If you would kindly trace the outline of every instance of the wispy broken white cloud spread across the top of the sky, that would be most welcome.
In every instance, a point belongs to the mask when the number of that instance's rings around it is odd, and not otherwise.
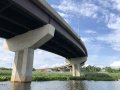
[[[97,3],[97,4],[96,4]],[[52,5],[62,16],[72,15],[70,17],[86,16],[96,19],[98,22],[108,22],[111,10],[120,10],[120,0],[61,0],[59,5]],[[68,19],[69,20],[69,19]]]

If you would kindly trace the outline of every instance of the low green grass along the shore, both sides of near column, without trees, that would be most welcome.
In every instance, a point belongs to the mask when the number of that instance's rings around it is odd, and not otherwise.
[[[8,81],[11,77],[10,70],[0,70],[0,81]],[[81,77],[73,77],[69,72],[32,72],[33,81],[48,80],[94,80],[114,81],[120,79],[120,73],[84,73]]]

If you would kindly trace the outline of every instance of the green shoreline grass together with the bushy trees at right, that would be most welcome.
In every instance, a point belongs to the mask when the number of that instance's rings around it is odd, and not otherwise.
[[[83,67],[81,77],[73,77],[70,72],[38,72],[33,70],[33,81],[45,80],[95,80],[113,81],[120,79],[120,69],[110,67],[99,68],[95,66]],[[10,80],[11,69],[0,69],[0,81]]]

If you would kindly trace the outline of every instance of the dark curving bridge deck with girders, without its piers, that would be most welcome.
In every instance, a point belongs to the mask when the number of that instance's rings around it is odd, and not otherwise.
[[[44,0],[0,0],[2,38],[8,39],[48,23],[56,28],[55,36],[40,49],[66,58],[87,56],[82,41]]]

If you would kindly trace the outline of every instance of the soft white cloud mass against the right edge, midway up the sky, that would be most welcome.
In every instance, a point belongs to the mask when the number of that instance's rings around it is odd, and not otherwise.
[[[97,39],[108,43],[113,50],[120,51],[120,16],[111,14],[107,27],[112,30],[111,33]]]

